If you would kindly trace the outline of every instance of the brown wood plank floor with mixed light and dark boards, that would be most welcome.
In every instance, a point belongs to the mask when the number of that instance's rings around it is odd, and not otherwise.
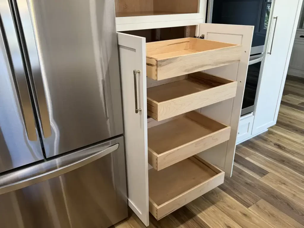
[[[287,76],[277,124],[237,145],[223,185],[157,221],[153,228],[304,228],[304,79]],[[116,228],[143,228],[130,217]],[[114,227],[112,227],[114,228]]]

